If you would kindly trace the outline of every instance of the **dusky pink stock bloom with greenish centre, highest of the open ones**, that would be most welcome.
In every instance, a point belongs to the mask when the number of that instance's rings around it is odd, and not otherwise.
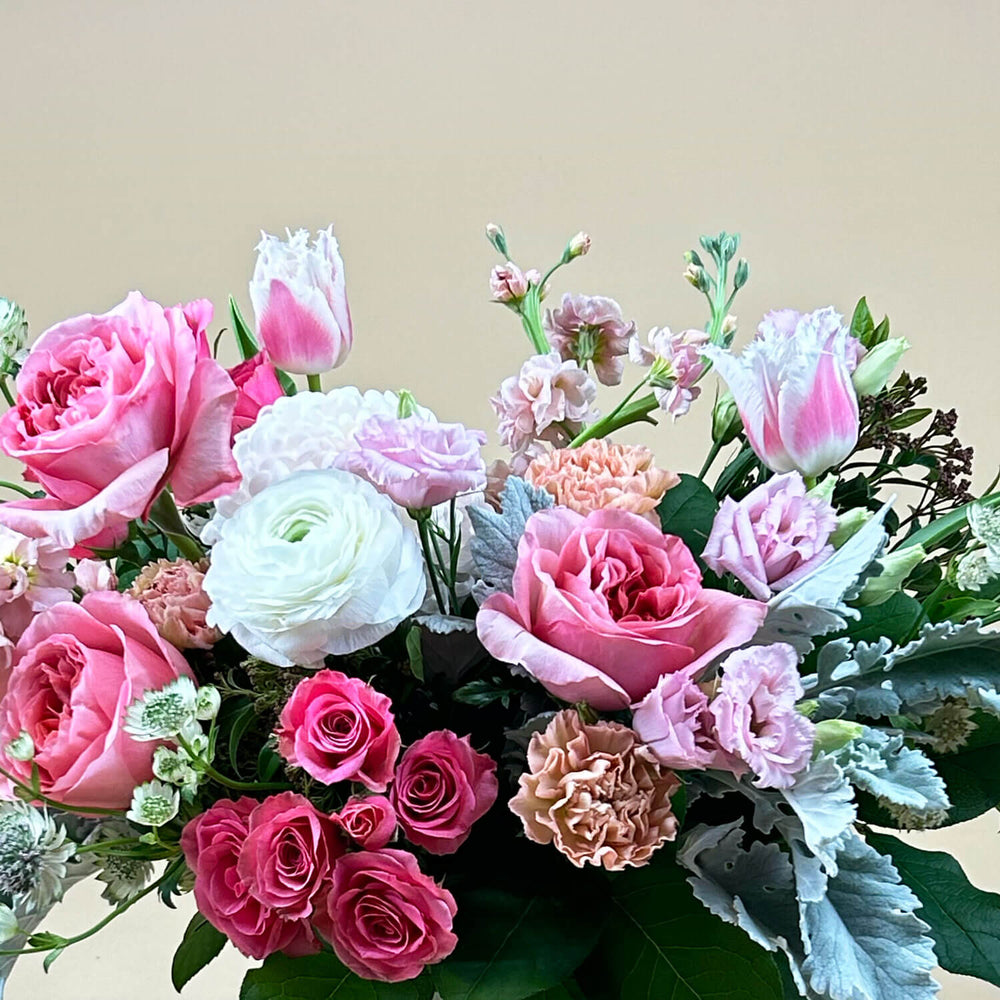
[[[545,314],[545,334],[564,361],[581,368],[594,364],[604,385],[618,385],[635,323],[626,322],[621,306],[601,295],[564,295],[557,309]]]

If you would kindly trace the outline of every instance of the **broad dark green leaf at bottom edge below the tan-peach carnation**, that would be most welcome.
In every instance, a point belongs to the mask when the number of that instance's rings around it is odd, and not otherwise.
[[[613,876],[612,913],[578,977],[588,996],[782,1000],[771,956],[709,913],[686,874],[661,849],[645,868]]]

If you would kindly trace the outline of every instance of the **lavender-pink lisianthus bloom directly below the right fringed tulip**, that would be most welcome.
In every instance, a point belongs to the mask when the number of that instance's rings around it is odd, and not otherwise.
[[[702,559],[732,573],[758,600],[797,583],[833,555],[837,512],[809,496],[797,472],[774,476],[742,500],[726,497],[715,515]]]

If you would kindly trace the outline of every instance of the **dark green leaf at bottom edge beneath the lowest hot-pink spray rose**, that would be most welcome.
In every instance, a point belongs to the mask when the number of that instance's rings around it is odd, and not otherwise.
[[[276,953],[246,974],[240,1000],[426,1000],[427,985],[426,976],[403,983],[362,979],[330,952],[305,958]]]

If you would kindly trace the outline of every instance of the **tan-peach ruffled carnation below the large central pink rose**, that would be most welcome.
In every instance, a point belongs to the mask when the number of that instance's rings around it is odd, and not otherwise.
[[[577,868],[646,864],[677,835],[677,776],[617,722],[555,715],[528,745],[528,770],[510,800],[529,840],[555,844]]]

